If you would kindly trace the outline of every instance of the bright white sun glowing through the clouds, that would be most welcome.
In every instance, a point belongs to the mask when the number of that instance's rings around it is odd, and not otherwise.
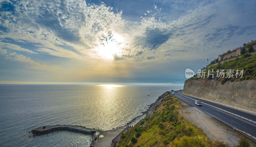
[[[123,48],[123,37],[117,33],[111,33],[111,35],[108,34],[101,39],[97,51],[100,58],[114,59],[114,55],[122,55]]]

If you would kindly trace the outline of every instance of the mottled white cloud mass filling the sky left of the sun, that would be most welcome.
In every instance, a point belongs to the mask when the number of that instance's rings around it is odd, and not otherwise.
[[[0,27],[6,30],[0,32],[0,39],[36,43],[40,52],[66,58],[95,56],[100,36],[109,31],[119,32],[125,24],[122,11],[114,13],[104,3],[32,0],[12,1],[9,5],[13,11],[0,11]],[[71,47],[75,52],[59,46]]]

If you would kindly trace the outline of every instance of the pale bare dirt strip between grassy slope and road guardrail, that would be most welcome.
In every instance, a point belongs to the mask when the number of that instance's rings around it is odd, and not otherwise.
[[[203,129],[204,133],[211,139],[211,141],[223,141],[230,146],[238,144],[239,137],[231,128],[216,121],[211,116],[205,114],[196,107],[191,107],[182,102],[184,109],[179,110],[179,113],[188,121],[191,121],[198,128]]]

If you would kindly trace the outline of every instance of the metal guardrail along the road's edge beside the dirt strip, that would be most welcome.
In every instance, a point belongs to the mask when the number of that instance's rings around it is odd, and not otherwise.
[[[177,94],[177,93],[176,93],[176,94]],[[180,95],[180,94],[179,94],[179,95]],[[183,95],[181,95],[181,96],[183,96]],[[186,97],[186,96],[184,96],[184,97]],[[177,98],[178,98],[178,97],[177,97]],[[178,98],[178,99],[181,99],[181,98]],[[189,99],[191,99],[191,98],[189,98]],[[183,100],[184,102],[186,102],[186,103],[188,103],[189,105],[191,105],[191,104],[190,104],[189,102],[187,102],[186,100],[184,100],[184,99],[181,99],[181,100]],[[198,108],[198,109],[200,109],[200,108]],[[200,109],[200,110],[202,110],[202,109]],[[204,110],[202,110],[202,111],[204,111]],[[209,113],[206,112],[206,111],[204,111],[204,112],[207,113],[207,114],[209,114]],[[235,131],[239,132],[240,134],[246,136],[246,137],[249,138],[250,140],[256,142],[256,137],[252,136],[251,134],[249,134],[249,133],[247,133],[247,132],[245,132],[245,131],[242,131],[242,130],[237,129],[236,127],[230,125],[229,123],[227,123],[227,122],[225,122],[225,121],[222,121],[221,119],[219,119],[219,118],[213,116],[212,114],[209,114],[209,115],[211,115],[213,118],[217,119],[218,121],[224,123],[224,124],[227,125],[228,127],[234,129]]]

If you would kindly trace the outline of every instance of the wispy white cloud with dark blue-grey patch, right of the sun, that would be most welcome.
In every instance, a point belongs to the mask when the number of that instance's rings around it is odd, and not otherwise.
[[[222,5],[221,7],[225,7],[228,4]],[[164,56],[166,53],[175,53],[172,58],[180,58],[180,56],[204,58],[202,54],[212,53],[217,56],[225,41],[231,38],[235,41],[238,36],[255,34],[256,29],[255,23],[241,25],[235,20],[237,18],[233,20],[230,15],[223,15],[225,11],[220,8],[218,2],[189,10],[173,21],[163,21],[156,17],[156,13],[142,17],[139,25],[129,28],[133,38],[129,52],[116,56],[115,59],[133,58],[135,61],[140,61],[155,56],[155,59],[163,60],[170,58]],[[233,13],[232,11],[230,9],[229,14]],[[230,45],[234,48],[232,44]],[[135,51],[143,53],[138,57]]]

